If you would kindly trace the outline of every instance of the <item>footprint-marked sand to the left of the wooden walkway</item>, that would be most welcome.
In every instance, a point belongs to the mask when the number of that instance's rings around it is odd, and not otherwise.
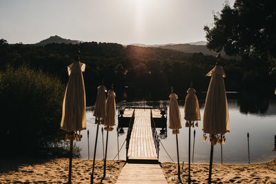
[[[68,159],[52,159],[17,166],[17,161],[12,161],[12,165],[5,161],[4,164],[3,162],[0,164],[0,183],[66,183],[68,163]],[[125,162],[107,161],[106,165],[107,176],[102,183],[115,183]],[[72,183],[90,183],[91,172],[91,160],[72,160]],[[94,183],[100,183],[101,174],[103,174],[103,161],[96,161]]]

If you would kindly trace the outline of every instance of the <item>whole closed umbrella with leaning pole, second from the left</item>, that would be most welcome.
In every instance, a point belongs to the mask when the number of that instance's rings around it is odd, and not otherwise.
[[[93,157],[93,166],[92,166],[92,173],[90,176],[90,183],[93,183],[94,179],[94,170],[95,170],[95,158],[96,158],[96,150],[97,150],[97,141],[98,141],[98,134],[99,134],[99,124],[103,124],[103,120],[106,117],[106,86],[102,84],[99,85],[97,88],[97,99],[95,103],[95,109],[93,116],[95,116],[95,124],[97,124],[97,131],[96,131],[96,139],[95,139],[95,148],[94,148],[94,157]]]

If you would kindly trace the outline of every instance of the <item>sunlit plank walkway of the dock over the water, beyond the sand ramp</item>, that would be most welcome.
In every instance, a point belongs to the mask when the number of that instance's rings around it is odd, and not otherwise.
[[[157,160],[150,125],[150,109],[136,109],[128,148],[130,160]]]

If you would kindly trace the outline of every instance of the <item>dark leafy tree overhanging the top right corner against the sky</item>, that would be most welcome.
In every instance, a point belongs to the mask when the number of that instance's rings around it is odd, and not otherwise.
[[[276,11],[272,0],[236,0],[214,15],[214,26],[205,26],[207,47],[276,66]]]

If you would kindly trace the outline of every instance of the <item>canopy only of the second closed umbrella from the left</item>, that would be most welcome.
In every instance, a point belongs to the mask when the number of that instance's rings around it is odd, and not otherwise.
[[[106,86],[99,85],[97,88],[97,99],[95,103],[95,110],[93,116],[96,116],[97,118],[104,119],[106,117]],[[103,123],[103,122],[97,122],[96,123]]]

